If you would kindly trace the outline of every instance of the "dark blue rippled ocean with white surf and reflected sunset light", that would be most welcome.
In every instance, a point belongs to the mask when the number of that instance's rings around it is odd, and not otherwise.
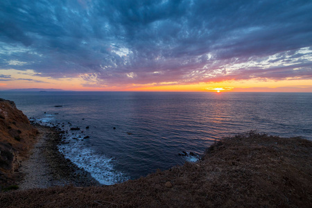
[[[102,184],[196,161],[216,140],[250,130],[312,139],[311,93],[0,92],[0,98],[64,130],[60,152]]]

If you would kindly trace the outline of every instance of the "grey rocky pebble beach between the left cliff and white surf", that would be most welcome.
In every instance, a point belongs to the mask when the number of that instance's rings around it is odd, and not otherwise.
[[[55,128],[33,123],[40,132],[40,139],[31,150],[30,157],[21,162],[20,172],[24,180],[19,189],[48,188],[73,185],[75,187],[99,186],[100,184],[87,171],[78,168],[58,150],[62,141]]]

